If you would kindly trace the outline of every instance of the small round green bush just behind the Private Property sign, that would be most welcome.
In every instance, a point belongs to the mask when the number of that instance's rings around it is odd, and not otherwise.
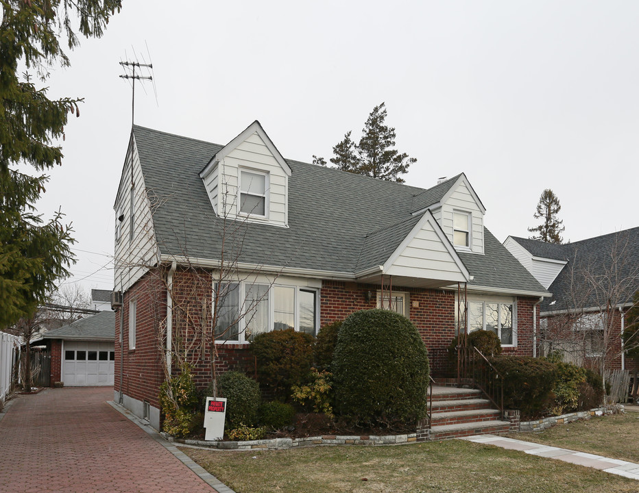
[[[256,423],[261,394],[259,385],[254,379],[240,372],[226,372],[217,379],[217,395],[226,397],[228,429],[234,429],[240,425],[251,427]]]

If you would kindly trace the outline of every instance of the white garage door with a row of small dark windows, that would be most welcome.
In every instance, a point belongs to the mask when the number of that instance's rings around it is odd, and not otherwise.
[[[64,341],[62,381],[65,386],[113,385],[113,342]]]

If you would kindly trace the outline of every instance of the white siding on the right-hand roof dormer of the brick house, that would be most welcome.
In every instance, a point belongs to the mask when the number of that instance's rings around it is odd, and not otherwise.
[[[433,210],[433,216],[437,219],[437,222],[442,225],[442,229],[448,236],[448,239],[455,246],[458,251],[469,251],[472,253],[484,253],[483,249],[483,215],[484,209],[481,203],[478,203],[479,199],[472,191],[472,187],[468,184],[465,177],[460,177],[457,184],[450,189],[450,192],[446,194],[440,207]],[[457,244],[459,241],[455,241],[455,229],[462,231],[462,228],[457,225],[455,227],[455,213],[459,217],[468,215],[468,241],[470,246],[463,244]],[[463,235],[458,234],[457,238],[461,238]]]

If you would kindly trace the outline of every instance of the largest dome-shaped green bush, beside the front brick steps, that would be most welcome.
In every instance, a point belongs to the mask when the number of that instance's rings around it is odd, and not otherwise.
[[[428,352],[404,316],[384,309],[348,316],[331,368],[335,410],[355,424],[402,427],[424,418]]]

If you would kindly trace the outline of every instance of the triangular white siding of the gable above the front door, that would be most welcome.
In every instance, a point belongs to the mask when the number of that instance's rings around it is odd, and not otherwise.
[[[463,280],[453,256],[428,222],[424,223],[385,273],[451,282]]]

